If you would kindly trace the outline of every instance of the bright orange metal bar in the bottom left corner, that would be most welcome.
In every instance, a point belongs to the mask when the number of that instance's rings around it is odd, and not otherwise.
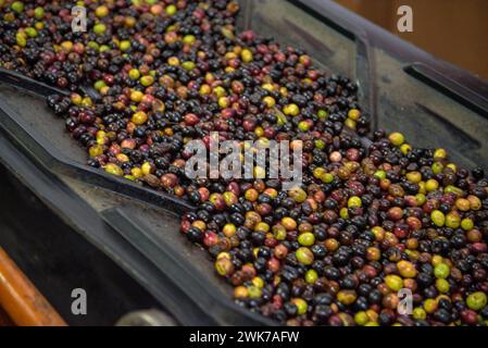
[[[0,306],[18,326],[66,325],[2,248],[0,248]]]

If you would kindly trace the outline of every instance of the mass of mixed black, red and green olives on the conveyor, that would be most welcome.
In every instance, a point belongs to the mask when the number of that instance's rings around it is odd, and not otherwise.
[[[139,2],[87,2],[83,36],[64,1],[8,2],[0,65],[70,91],[46,101],[88,165],[196,207],[182,232],[208,249],[238,306],[299,325],[488,319],[483,169],[399,132],[363,144],[356,84],[302,50],[239,33],[234,0]],[[239,149],[288,140],[302,151],[301,183],[285,190],[268,159],[252,171],[262,179],[214,177],[210,165],[190,177],[186,145],[208,149],[214,132]],[[395,311],[402,288],[412,318]]]

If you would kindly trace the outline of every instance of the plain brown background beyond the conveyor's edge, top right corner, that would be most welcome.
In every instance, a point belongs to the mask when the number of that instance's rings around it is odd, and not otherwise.
[[[325,0],[324,0],[325,1]],[[335,0],[427,52],[488,80],[488,0]],[[413,33],[399,33],[398,8],[413,10]]]

